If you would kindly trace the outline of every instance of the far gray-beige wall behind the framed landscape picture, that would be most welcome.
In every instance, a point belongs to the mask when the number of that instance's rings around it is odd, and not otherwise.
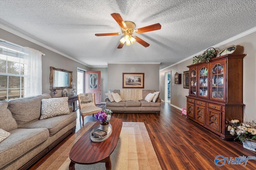
[[[144,89],[159,91],[159,64],[108,64],[108,90],[122,89],[124,72],[144,73]]]

